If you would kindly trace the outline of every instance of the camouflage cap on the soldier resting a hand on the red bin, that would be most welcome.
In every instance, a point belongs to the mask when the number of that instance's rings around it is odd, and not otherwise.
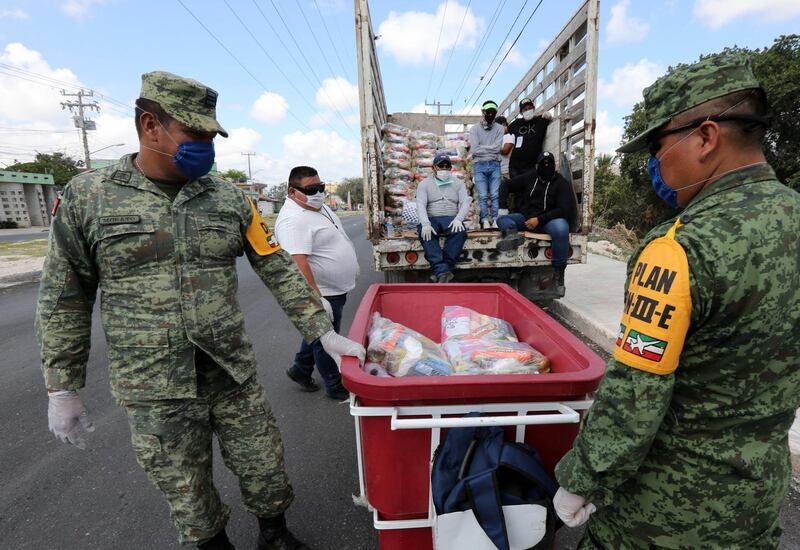
[[[217,92],[204,84],[166,71],[142,75],[139,97],[155,101],[166,113],[192,130],[228,132],[217,122]]]

